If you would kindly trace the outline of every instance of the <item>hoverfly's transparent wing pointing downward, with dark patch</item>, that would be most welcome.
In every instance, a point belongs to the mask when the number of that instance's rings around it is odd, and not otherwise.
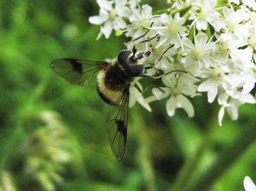
[[[108,117],[110,127],[108,129],[108,140],[112,151],[118,161],[121,161],[125,154],[127,139],[127,121],[128,121],[128,103],[129,88],[124,90],[124,96],[121,98],[121,105],[115,107]]]

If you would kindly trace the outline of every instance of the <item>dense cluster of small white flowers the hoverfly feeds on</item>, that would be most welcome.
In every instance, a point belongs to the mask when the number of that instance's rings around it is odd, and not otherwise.
[[[90,23],[100,25],[102,35],[137,39],[137,49],[151,51],[148,63],[166,87],[153,89],[153,96],[140,102],[168,97],[167,113],[182,107],[194,115],[190,98],[207,92],[208,102],[220,105],[218,123],[226,111],[237,119],[238,107],[255,103],[256,3],[252,0],[168,0],[166,9],[153,14],[138,0],[97,0],[100,14]],[[141,43],[140,43],[141,42]],[[143,43],[142,43],[143,42]],[[185,72],[182,72],[185,71]]]

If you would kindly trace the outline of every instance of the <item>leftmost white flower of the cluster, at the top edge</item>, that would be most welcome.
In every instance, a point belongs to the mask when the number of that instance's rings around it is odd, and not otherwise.
[[[102,25],[101,32],[98,38],[101,38],[102,34],[105,38],[109,38],[112,30],[118,31],[119,29],[125,28],[127,24],[123,17],[129,16],[129,9],[125,6],[126,0],[97,0],[100,6],[100,14],[97,16],[91,16],[89,18],[90,23],[95,25]],[[113,3],[115,7],[113,8]]]

